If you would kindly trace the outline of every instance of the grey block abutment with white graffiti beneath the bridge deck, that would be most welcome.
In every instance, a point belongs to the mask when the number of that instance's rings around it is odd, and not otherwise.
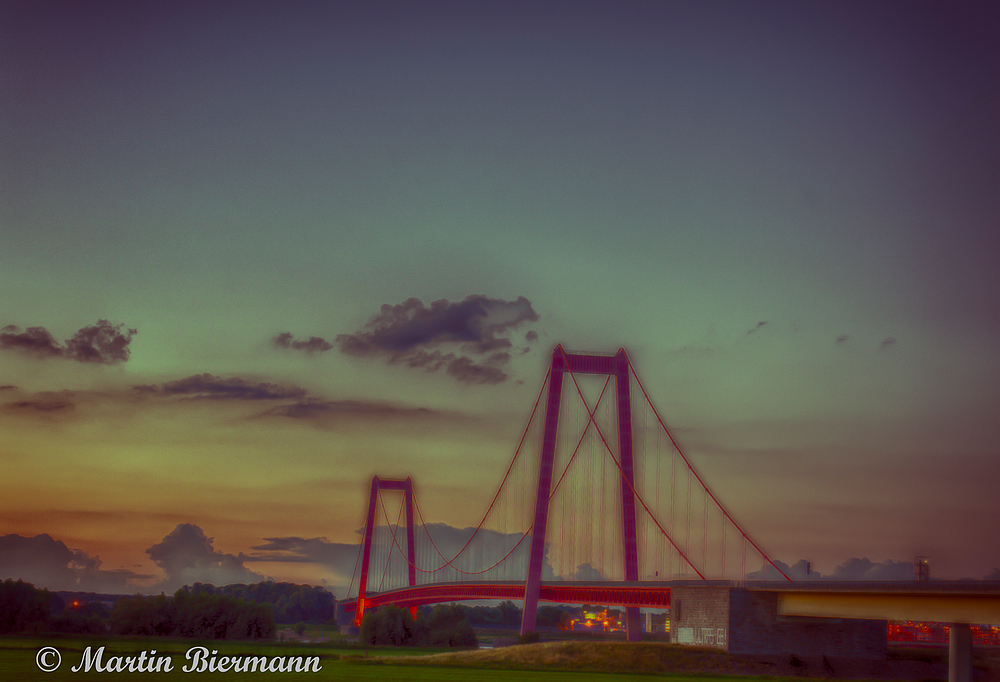
[[[721,586],[672,588],[670,641],[733,654],[887,654],[884,620],[779,618],[777,593]]]

